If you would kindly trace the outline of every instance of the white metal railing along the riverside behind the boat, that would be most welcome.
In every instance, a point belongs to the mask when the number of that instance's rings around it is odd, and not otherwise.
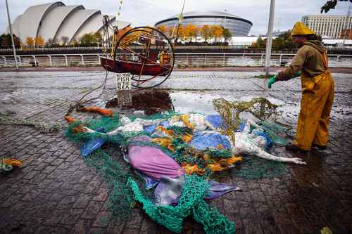
[[[17,56],[20,67],[100,66],[103,53],[38,54]],[[352,55],[329,54],[329,67],[352,67]],[[291,63],[294,54],[272,53],[271,66]],[[263,66],[265,53],[175,53],[175,67]],[[0,56],[0,67],[14,67],[13,56]]]

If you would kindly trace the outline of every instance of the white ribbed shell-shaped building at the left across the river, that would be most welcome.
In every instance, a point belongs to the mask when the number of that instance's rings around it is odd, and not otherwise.
[[[79,40],[83,34],[103,31],[103,16],[99,10],[87,10],[82,5],[65,6],[61,1],[30,6],[13,21],[12,31],[23,42],[27,37],[39,35],[48,41],[61,42],[62,37],[68,43]],[[109,16],[112,25],[119,28],[129,22],[116,22],[115,16]],[[8,30],[7,30],[8,31]]]

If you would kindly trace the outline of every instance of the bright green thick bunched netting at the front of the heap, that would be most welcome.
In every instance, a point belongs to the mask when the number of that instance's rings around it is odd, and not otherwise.
[[[139,186],[129,180],[134,196],[143,204],[143,209],[153,221],[160,223],[175,233],[181,233],[184,219],[192,214],[194,220],[203,224],[206,233],[234,233],[234,223],[227,220],[216,209],[210,209],[203,200],[209,188],[208,182],[201,176],[186,176],[180,202],[177,206],[155,205],[142,195]]]

